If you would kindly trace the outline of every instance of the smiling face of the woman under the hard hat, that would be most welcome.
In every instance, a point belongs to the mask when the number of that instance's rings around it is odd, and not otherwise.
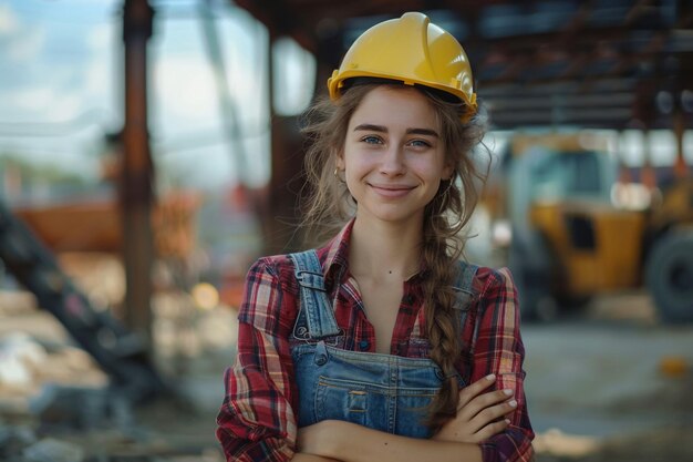
[[[442,179],[452,176],[428,100],[412,88],[376,86],[354,111],[338,158],[356,216],[423,222]]]

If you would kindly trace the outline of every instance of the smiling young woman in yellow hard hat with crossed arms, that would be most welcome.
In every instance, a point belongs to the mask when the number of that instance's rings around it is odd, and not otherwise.
[[[459,43],[424,14],[354,42],[306,129],[307,223],[259,259],[217,437],[234,461],[527,461],[517,296],[459,259],[484,134]]]

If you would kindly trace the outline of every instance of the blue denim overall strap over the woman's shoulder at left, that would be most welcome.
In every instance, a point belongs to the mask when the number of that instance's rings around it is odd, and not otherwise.
[[[300,310],[296,326],[302,324],[302,317],[304,317],[309,338],[320,339],[338,335],[340,330],[324,288],[324,277],[318,254],[316,250],[306,250],[290,254],[289,257],[293,260],[296,279],[301,286]],[[297,335],[297,332],[293,333]],[[303,335],[297,337],[306,338]]]

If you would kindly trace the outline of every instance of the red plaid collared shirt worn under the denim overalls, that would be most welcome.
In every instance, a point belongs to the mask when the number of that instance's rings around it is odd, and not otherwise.
[[[329,298],[337,300],[334,314],[344,331],[343,348],[374,352],[375,332],[361,308],[361,295],[349,273],[352,226],[353,220],[318,249],[318,257]],[[457,368],[470,382],[495,373],[497,389],[515,390],[518,402],[510,425],[480,444],[483,458],[485,462],[529,461],[534,456],[534,431],[523,388],[525,348],[519,332],[517,292],[507,269],[479,268],[474,288],[479,297],[470,306],[462,335],[463,345],[469,347],[478,325],[476,341],[473,353],[463,355]],[[293,456],[298,392],[290,337],[299,299],[293,264],[287,255],[261,258],[248,271],[239,312],[238,356],[226,371],[226,397],[217,417],[217,438],[229,461],[285,462]],[[426,355],[421,348],[426,343],[421,341],[426,335],[422,305],[421,277],[416,275],[404,283],[392,355]]]

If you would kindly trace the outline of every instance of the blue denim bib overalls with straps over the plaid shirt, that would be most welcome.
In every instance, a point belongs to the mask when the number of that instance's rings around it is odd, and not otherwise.
[[[444,379],[442,370],[428,358],[335,348],[343,332],[337,326],[318,256],[308,250],[290,257],[301,302],[291,348],[299,390],[299,427],[337,419],[400,435],[428,438],[427,405]],[[477,267],[461,265],[455,288],[464,326]]]

